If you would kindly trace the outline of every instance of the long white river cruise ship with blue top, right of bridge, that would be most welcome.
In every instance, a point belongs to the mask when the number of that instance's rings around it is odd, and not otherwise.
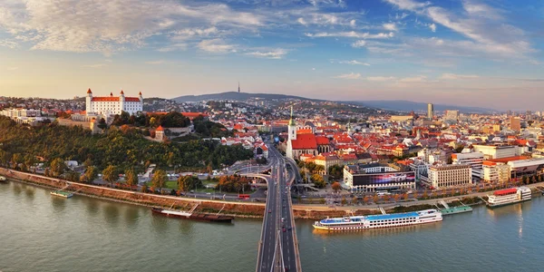
[[[371,216],[353,216],[335,219],[322,219],[313,226],[328,231],[348,231],[371,228],[394,228],[442,221],[442,213],[437,209],[382,214]]]

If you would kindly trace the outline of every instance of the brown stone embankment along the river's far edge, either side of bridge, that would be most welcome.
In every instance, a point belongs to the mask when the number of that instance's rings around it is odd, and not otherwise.
[[[221,210],[221,214],[232,216],[235,218],[253,218],[262,219],[265,214],[265,203],[256,202],[235,202],[225,200],[211,199],[192,199],[175,197],[170,195],[156,195],[150,193],[142,193],[124,189],[112,189],[102,186],[90,185],[85,183],[73,182],[68,180],[60,180],[49,177],[44,177],[37,174],[26,173],[16,170],[8,170],[0,168],[0,175],[18,182],[24,182],[34,186],[39,186],[46,189],[62,189],[69,185],[67,190],[77,191],[76,195],[82,195],[90,198],[105,199],[121,203],[141,205],[150,208],[170,208],[189,210],[195,205],[199,205],[196,212],[217,214]],[[544,182],[529,184],[529,188],[544,186]],[[406,201],[402,203],[387,203],[381,205],[366,205],[364,207],[341,206],[330,208],[326,205],[293,205],[293,216],[295,219],[324,219],[326,217],[343,217],[346,215],[371,215],[379,214],[380,208],[384,208],[390,213],[405,212],[418,209],[435,209],[439,201],[444,200],[446,203],[457,206],[463,204],[481,205],[481,197],[487,196],[490,192],[475,192],[469,195],[449,197],[442,199],[423,199],[415,201]],[[534,191],[533,195],[541,195]],[[458,202],[460,201],[460,202]]]

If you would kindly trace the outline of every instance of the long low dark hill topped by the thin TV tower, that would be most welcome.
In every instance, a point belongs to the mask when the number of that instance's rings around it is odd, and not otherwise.
[[[276,93],[248,93],[248,92],[219,92],[201,95],[184,95],[172,98],[175,102],[199,102],[208,100],[233,100],[233,101],[246,101],[250,98],[261,98],[267,100],[273,99],[300,99],[310,101],[322,101],[318,99],[308,99],[300,96],[276,94]]]

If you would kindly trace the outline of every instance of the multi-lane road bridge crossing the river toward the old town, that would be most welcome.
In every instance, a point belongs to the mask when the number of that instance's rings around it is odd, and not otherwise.
[[[273,147],[268,150],[268,159],[272,164],[256,271],[302,271],[291,203],[291,184],[298,180],[296,164],[293,166],[294,161],[286,160]]]

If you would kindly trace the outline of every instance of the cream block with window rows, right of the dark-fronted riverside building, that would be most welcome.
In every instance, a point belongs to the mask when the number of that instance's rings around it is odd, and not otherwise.
[[[431,166],[428,181],[434,188],[471,184],[472,169],[470,165]]]

